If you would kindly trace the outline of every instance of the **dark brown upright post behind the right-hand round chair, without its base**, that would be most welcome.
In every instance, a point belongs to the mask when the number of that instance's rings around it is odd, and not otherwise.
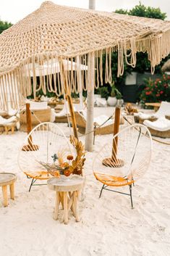
[[[114,135],[116,135],[116,133],[119,133],[119,123],[120,123],[120,107],[116,107],[115,115],[114,115]],[[113,140],[113,148],[112,148],[111,158],[114,161],[116,160],[117,144],[118,144],[118,137],[116,137]]]

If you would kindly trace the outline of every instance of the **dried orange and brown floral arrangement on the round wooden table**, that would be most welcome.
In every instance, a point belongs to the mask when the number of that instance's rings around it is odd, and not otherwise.
[[[70,136],[70,142],[75,147],[77,156],[69,154],[67,160],[64,161],[64,150],[55,153],[51,156],[54,162],[46,163],[39,162],[52,176],[59,178],[61,175],[70,176],[70,174],[82,175],[82,169],[85,163],[85,149],[81,141],[78,141],[74,136]]]

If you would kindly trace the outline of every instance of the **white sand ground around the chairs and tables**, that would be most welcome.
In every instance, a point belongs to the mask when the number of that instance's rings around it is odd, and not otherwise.
[[[110,115],[111,108],[98,108]],[[60,124],[65,131],[67,125]],[[93,153],[85,162],[85,199],[80,223],[53,220],[54,191],[34,186],[17,165],[26,133],[1,135],[0,171],[17,173],[16,199],[2,206],[0,193],[1,256],[168,256],[170,255],[170,146],[153,142],[153,157],[145,176],[133,188],[135,209],[129,197],[103,191],[93,176],[93,157],[109,136],[96,136]],[[82,137],[84,141],[84,137]],[[127,191],[127,187],[122,190]]]

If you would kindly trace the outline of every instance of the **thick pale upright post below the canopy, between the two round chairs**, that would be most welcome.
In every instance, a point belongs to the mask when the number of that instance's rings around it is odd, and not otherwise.
[[[95,58],[94,53],[88,54],[88,98],[87,120],[85,128],[85,150],[93,151],[93,117],[94,117],[94,83],[95,83]]]

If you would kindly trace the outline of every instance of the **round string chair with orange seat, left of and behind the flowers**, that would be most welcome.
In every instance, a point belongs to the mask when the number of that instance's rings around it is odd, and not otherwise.
[[[18,164],[27,178],[31,178],[32,186],[40,185],[37,180],[51,178],[41,162],[52,164],[54,157],[57,161],[67,159],[68,154],[73,154],[72,145],[67,140],[63,131],[54,123],[41,123],[27,135],[18,154]],[[30,191],[29,189],[29,191]]]

